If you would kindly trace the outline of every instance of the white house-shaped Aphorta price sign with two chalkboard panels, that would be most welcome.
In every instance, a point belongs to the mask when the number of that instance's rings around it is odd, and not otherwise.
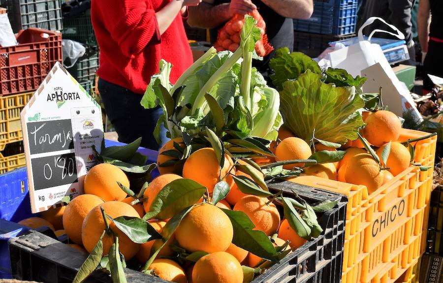
[[[21,112],[32,213],[83,193],[103,142],[101,108],[56,63]]]

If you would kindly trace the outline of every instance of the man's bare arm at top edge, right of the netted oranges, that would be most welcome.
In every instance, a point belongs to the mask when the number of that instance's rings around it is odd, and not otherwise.
[[[314,11],[313,0],[261,0],[285,18],[309,19]]]

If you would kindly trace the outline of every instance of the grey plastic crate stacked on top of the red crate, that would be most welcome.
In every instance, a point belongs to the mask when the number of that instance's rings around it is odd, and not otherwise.
[[[12,31],[39,28],[61,31],[62,10],[60,0],[4,0]]]

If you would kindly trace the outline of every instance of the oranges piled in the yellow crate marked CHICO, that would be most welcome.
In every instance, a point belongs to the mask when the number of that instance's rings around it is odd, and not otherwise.
[[[397,140],[400,137],[401,123],[398,117],[389,111],[363,112],[366,126],[360,131],[361,135],[375,148],[380,160],[383,149],[390,142],[390,154],[386,164],[379,162],[365,149],[360,139],[348,141],[342,146],[347,153],[340,162],[316,164],[305,167],[304,174],[329,180],[364,185],[372,193],[388,183],[395,176],[405,171],[411,162],[409,149]],[[285,135],[288,130],[284,129]],[[315,145],[316,151],[336,149]],[[307,159],[313,154],[309,144],[297,137],[287,137],[276,147],[276,160]],[[285,165],[286,169],[304,164]],[[294,181],[295,178],[290,178]]]

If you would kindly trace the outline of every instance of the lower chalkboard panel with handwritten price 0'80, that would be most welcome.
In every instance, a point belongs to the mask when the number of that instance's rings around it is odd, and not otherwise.
[[[32,158],[31,166],[34,173],[34,190],[77,182],[74,153]]]

